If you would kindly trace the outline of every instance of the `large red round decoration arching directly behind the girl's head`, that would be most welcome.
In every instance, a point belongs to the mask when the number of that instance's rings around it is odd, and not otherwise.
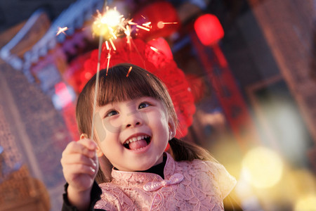
[[[126,43],[126,39],[117,39],[114,42],[117,51],[111,51],[110,67],[119,63],[133,63],[141,68],[152,72],[154,75],[162,79],[166,84],[169,94],[171,95],[173,105],[178,115],[179,128],[176,134],[177,138],[187,134],[187,128],[192,124],[192,115],[195,113],[194,97],[190,91],[189,84],[185,78],[185,74],[180,70],[175,61],[164,53],[153,51],[149,44],[140,39],[131,40],[131,44]],[[100,69],[107,68],[108,51],[103,46],[101,53]],[[84,68],[79,68],[77,72],[73,72],[72,77],[77,85],[82,89],[88,78],[81,77],[86,72],[96,73],[98,64],[98,49],[91,51],[90,58],[84,62],[88,55],[79,56],[74,63]],[[80,65],[78,63],[81,63]],[[132,70],[133,71],[133,70]],[[93,74],[94,74],[93,73]],[[77,87],[78,88],[78,87]]]

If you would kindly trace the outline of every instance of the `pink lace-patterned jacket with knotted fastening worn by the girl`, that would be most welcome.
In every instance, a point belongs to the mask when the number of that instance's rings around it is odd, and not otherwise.
[[[167,153],[164,178],[144,172],[112,170],[113,180],[100,184],[95,208],[105,210],[224,210],[236,180],[216,162],[176,162]]]

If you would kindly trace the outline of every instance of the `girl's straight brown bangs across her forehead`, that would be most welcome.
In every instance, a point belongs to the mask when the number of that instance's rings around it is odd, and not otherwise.
[[[132,68],[131,68],[132,67]],[[129,72],[129,69],[131,71]],[[100,71],[98,85],[98,106],[107,103],[127,101],[142,96],[150,96],[162,100],[164,88],[157,79],[150,77],[150,72],[133,65],[120,65]]]

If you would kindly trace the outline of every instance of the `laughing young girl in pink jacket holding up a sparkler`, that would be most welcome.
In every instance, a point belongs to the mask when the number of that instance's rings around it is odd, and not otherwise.
[[[223,210],[236,181],[203,148],[175,138],[164,84],[130,64],[101,70],[98,84],[95,113],[96,76],[79,95],[82,134],[62,153],[62,210]]]

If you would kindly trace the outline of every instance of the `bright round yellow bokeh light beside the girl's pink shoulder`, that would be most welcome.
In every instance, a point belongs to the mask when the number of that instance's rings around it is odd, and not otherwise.
[[[282,159],[268,148],[254,148],[244,156],[242,171],[249,184],[256,188],[270,188],[282,177]]]

